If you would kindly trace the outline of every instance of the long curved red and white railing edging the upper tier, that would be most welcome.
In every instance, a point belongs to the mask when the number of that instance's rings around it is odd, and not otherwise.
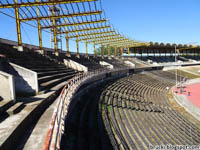
[[[114,71],[127,70],[124,68],[114,69]],[[50,122],[50,126],[46,135],[43,150],[59,150],[61,137],[64,133],[64,118],[67,115],[68,107],[72,99],[73,94],[76,92],[77,87],[80,86],[85,80],[100,74],[109,73],[111,71],[96,70],[88,73],[79,73],[72,79],[70,79],[67,84],[62,89],[60,96],[57,99],[57,104],[53,112],[53,116]]]

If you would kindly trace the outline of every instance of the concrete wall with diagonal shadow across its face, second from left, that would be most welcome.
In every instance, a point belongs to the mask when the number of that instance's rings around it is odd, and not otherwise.
[[[9,63],[8,72],[14,75],[15,90],[20,95],[35,95],[39,91],[37,73]]]

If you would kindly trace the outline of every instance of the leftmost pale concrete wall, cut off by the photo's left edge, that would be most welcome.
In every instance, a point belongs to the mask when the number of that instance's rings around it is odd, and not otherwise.
[[[15,82],[13,75],[0,71],[0,81],[0,96],[7,101],[15,101]]]

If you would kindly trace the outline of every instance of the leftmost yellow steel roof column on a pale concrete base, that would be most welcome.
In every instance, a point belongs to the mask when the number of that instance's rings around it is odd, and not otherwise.
[[[15,4],[17,4],[18,0],[15,0]],[[22,38],[21,38],[21,21],[19,18],[19,8],[16,6],[15,7],[15,18],[16,18],[16,27],[17,27],[17,40],[18,40],[18,50],[19,51],[23,51],[23,47],[22,47]]]

